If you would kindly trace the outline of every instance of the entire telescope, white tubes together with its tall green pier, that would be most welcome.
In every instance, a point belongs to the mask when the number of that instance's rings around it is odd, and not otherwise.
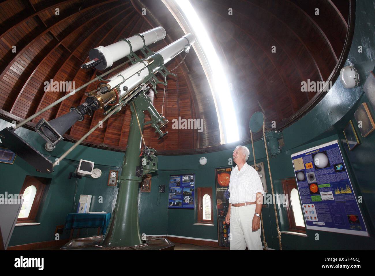
[[[81,68],[87,69],[95,67],[98,70],[109,68],[117,60],[127,57],[127,62],[121,63],[115,68],[110,69],[104,74],[97,76],[93,80],[81,87],[73,90],[64,97],[20,122],[15,127],[5,128],[0,131],[1,142],[3,142],[11,151],[19,155],[29,164],[34,166],[37,171],[51,173],[54,167],[72,152],[84,139],[86,139],[100,122],[89,130],[80,140],[78,140],[68,151],[64,152],[54,163],[46,158],[42,153],[37,151],[27,141],[23,140],[15,133],[15,130],[22,127],[27,122],[36,118],[46,110],[61,103],[66,98],[75,94],[77,91],[88,86],[94,81],[98,81],[96,89],[87,92],[83,104],[77,107],[71,107],[70,112],[56,119],[47,122],[41,119],[35,127],[35,131],[46,140],[45,149],[53,151],[56,144],[63,139],[63,134],[72,127],[77,121],[82,121],[86,115],[92,116],[96,110],[102,110],[106,115],[101,122],[106,121],[110,116],[119,112],[121,107],[130,103],[132,113],[129,135],[127,139],[126,152],[124,154],[121,175],[118,177],[118,193],[115,208],[112,211],[110,225],[104,236],[85,238],[85,245],[80,243],[80,239],[69,241],[62,249],[74,250],[82,249],[103,249],[118,250],[130,248],[139,250],[136,246],[144,245],[140,236],[138,221],[138,191],[139,182],[142,177],[151,172],[157,171],[156,150],[148,148],[143,139],[143,127],[145,124],[151,124],[159,134],[159,139],[164,137],[168,132],[163,133],[160,128],[168,120],[160,115],[152,104],[151,99],[146,92],[153,87],[156,91],[157,84],[166,85],[166,76],[174,75],[168,71],[165,64],[177,56],[179,53],[189,51],[190,45],[195,42],[191,33],[184,35],[182,38],[172,42],[161,50],[154,52],[148,45],[159,41],[165,37],[165,30],[157,27],[144,33],[136,34],[128,39],[120,41],[106,47],[99,46],[90,50],[90,61],[81,65]],[[143,58],[140,58],[135,51],[140,50]],[[126,63],[132,63],[127,68],[123,68]],[[121,71],[112,75],[108,79],[103,79],[116,69]],[[159,81],[155,74],[159,72],[164,81]],[[144,111],[148,111],[151,116],[150,122],[144,122]],[[144,148],[141,151],[141,143]],[[142,156],[141,156],[142,155]],[[141,157],[140,157],[141,156]],[[165,239],[166,240],[166,239]],[[147,241],[147,240],[146,240]],[[78,245],[77,245],[78,244]],[[165,241],[166,247],[171,247],[169,241]],[[151,246],[152,247],[152,246]],[[151,248],[150,247],[150,248]],[[141,249],[146,250],[146,249]]]

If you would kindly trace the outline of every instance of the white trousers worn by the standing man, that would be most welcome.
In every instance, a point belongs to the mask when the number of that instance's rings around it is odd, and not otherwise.
[[[263,250],[260,238],[261,228],[252,232],[256,204],[242,207],[231,207],[230,217],[230,250]],[[261,226],[262,227],[262,226]]]

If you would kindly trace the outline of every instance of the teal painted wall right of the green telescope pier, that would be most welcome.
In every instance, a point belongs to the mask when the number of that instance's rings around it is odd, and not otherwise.
[[[349,119],[353,119],[353,113],[360,103],[366,101],[363,96],[363,84],[374,68],[375,37],[373,26],[375,26],[374,3],[372,1],[357,1],[356,3],[356,26],[350,54],[345,65],[353,65],[361,76],[358,87],[345,89],[341,81],[337,80],[332,89],[325,97],[298,122],[284,129],[285,146],[283,152],[276,158],[270,160],[271,170],[274,180],[275,193],[282,193],[281,180],[294,177],[293,165],[290,155],[317,146],[332,140],[339,140],[341,152],[345,164],[348,167],[348,174],[353,184],[354,192],[357,196],[363,196],[363,204],[360,209],[365,217],[368,231],[374,234],[374,196],[373,167],[375,164],[375,143],[374,133],[362,139],[362,145],[354,151],[348,152],[346,144],[342,142],[342,130]],[[366,48],[363,53],[358,52],[358,46]],[[374,114],[374,113],[373,113]],[[357,133],[359,133],[357,129]],[[159,169],[170,170],[170,175],[195,173],[197,187],[213,187],[214,189],[214,168],[228,166],[228,158],[231,157],[233,149],[223,150],[214,153],[201,155],[184,156],[161,156],[159,157]],[[249,145],[247,145],[249,146]],[[362,147],[362,148],[361,148]],[[255,142],[255,154],[257,162],[266,160],[263,141]],[[199,158],[205,156],[208,163],[201,166]],[[251,161],[249,161],[252,164]],[[268,178],[268,172],[266,171]],[[168,179],[165,181],[168,185]],[[270,190],[270,181],[267,186]],[[151,190],[149,197],[155,197],[155,190]],[[143,195],[142,195],[143,196]],[[168,195],[163,195],[165,206],[168,204]],[[214,196],[214,202],[216,197]],[[144,209],[151,211],[152,204]],[[164,210],[168,214],[168,223],[164,225],[164,232],[169,235],[179,235],[185,237],[217,239],[216,222],[215,227],[197,226],[194,223],[194,211],[192,210]],[[278,239],[276,233],[276,219],[273,205],[264,208],[264,227],[268,246],[278,249]],[[215,214],[216,216],[216,210]],[[288,219],[284,207],[278,207],[279,224],[281,230],[288,229]],[[149,217],[149,227],[158,223],[157,219]],[[144,225],[141,225],[141,228]],[[151,230],[151,229],[150,229]],[[315,240],[315,234],[320,235],[319,240]],[[308,237],[296,235],[282,235],[284,249],[375,249],[373,237],[359,237],[324,231],[307,231]]]

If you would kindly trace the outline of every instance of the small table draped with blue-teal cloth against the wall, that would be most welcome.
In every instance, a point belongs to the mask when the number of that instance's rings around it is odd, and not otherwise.
[[[98,235],[102,229],[102,235],[107,231],[110,224],[111,214],[89,214],[89,213],[70,213],[66,216],[65,229],[71,229],[70,239],[73,237],[74,229],[78,229],[77,238],[80,235],[81,228],[98,227]]]

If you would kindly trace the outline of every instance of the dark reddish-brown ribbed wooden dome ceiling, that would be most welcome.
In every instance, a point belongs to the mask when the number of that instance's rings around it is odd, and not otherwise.
[[[348,33],[350,1],[341,0],[190,0],[198,12],[233,83],[240,136],[250,136],[252,113],[262,111],[279,125],[301,116],[317,101],[316,92],[301,92],[301,82],[327,81],[337,65]],[[58,8],[58,15],[56,9]],[[228,15],[228,8],[233,15]],[[315,15],[315,8],[320,15]],[[146,15],[142,15],[142,9]],[[66,92],[45,91],[45,81],[74,81],[75,88],[101,72],[84,70],[89,50],[163,26],[167,36],[151,45],[156,51],[184,35],[161,1],[155,0],[6,0],[0,3],[0,112],[3,118],[22,121]],[[157,11],[157,12],[156,12]],[[276,53],[272,53],[276,46]],[[181,62],[178,56],[167,68]],[[124,60],[114,63],[113,67]],[[120,69],[118,70],[120,71]],[[220,144],[213,96],[199,59],[190,51],[168,77],[163,101],[150,94],[153,104],[169,122],[178,118],[204,120],[202,133],[175,130],[157,140],[148,126],[144,137],[158,152],[193,152]],[[84,101],[93,83],[28,124],[54,119]],[[260,107],[261,106],[261,107]],[[104,118],[77,122],[65,135],[78,140]],[[149,116],[146,112],[146,121]],[[130,110],[123,109],[85,140],[88,145],[124,150]]]

